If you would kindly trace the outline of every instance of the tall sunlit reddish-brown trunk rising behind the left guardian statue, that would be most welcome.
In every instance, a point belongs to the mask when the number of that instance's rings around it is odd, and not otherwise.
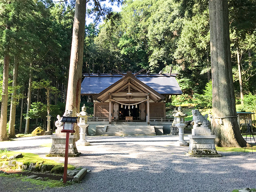
[[[66,110],[73,110],[73,116],[76,116],[80,110],[85,12],[86,0],[76,0],[66,103]],[[75,131],[75,134],[79,136],[77,126]]]

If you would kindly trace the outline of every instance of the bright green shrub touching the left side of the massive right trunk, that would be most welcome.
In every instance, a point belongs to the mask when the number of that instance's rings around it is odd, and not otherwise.
[[[204,94],[194,94],[193,99],[198,109],[212,108],[212,82],[206,84]]]

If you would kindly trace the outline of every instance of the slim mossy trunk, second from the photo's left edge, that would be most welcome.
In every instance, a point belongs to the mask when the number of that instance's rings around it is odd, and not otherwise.
[[[18,55],[14,58],[14,68],[13,68],[13,78],[12,78],[12,99],[11,99],[11,109],[10,109],[10,119],[9,119],[9,138],[15,137],[15,115],[16,115],[16,85],[17,85],[17,75],[18,75]]]

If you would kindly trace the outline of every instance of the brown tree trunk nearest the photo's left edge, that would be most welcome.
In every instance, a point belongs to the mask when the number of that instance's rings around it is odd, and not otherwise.
[[[0,141],[8,140],[6,124],[7,124],[7,104],[8,104],[9,61],[10,61],[10,56],[8,54],[5,54],[4,69],[3,69],[2,105],[1,105],[1,117],[0,117]]]

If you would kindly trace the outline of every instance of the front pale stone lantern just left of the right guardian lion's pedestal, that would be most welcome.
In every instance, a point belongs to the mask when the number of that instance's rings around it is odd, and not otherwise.
[[[179,141],[177,141],[177,146],[188,146],[187,141],[184,140],[184,128],[186,127],[184,119],[188,115],[182,112],[182,107],[179,107],[178,112],[173,114],[173,116],[177,118],[177,123],[175,125],[179,129]]]

